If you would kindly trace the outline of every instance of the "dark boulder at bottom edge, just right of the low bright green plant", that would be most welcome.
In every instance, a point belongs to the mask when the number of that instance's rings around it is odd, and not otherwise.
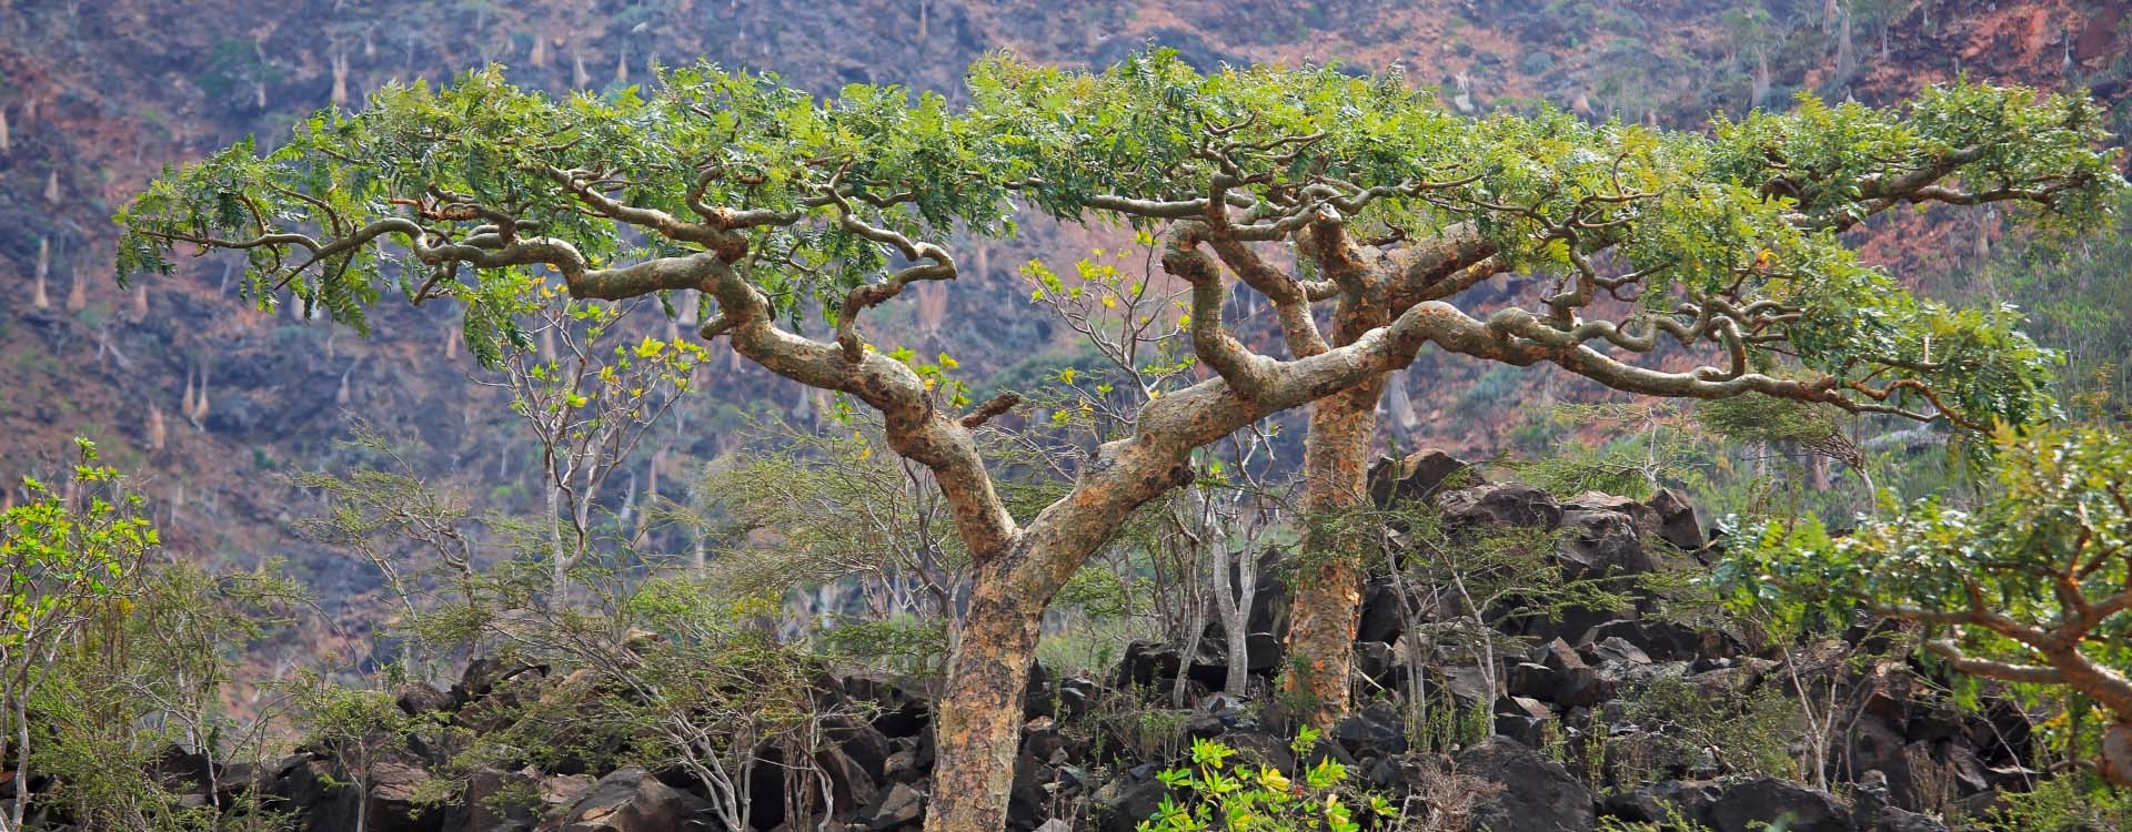
[[[1584,783],[1507,736],[1458,753],[1458,772],[1503,785],[1473,806],[1473,832],[1590,832],[1599,821]]]

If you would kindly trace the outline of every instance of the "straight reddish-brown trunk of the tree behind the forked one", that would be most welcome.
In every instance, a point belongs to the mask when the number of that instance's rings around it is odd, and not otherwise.
[[[1369,500],[1369,440],[1384,385],[1377,375],[1318,400],[1303,449],[1303,579],[1290,613],[1281,698],[1292,717],[1315,728],[1332,728],[1347,713],[1367,532],[1339,515]]]

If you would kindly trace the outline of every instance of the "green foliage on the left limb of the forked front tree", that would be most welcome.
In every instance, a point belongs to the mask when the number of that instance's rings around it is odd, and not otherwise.
[[[356,115],[320,111],[264,155],[245,140],[168,170],[122,211],[132,234],[119,247],[119,264],[126,274],[160,272],[168,268],[171,240],[215,245],[262,228],[316,228],[343,238],[397,215],[401,204],[429,204],[433,194],[510,211],[516,230],[567,238],[593,264],[669,251],[580,211],[563,185],[565,170],[627,170],[618,196],[674,215],[691,213],[691,202],[829,213],[808,202],[808,187],[831,177],[853,185],[861,206],[910,183],[942,183],[953,187],[925,187],[906,211],[866,211],[891,230],[921,221],[994,230],[1002,221],[1000,179],[970,172],[1006,164],[998,143],[976,130],[976,121],[953,117],[940,96],[912,102],[902,87],[851,85],[840,98],[817,102],[772,74],[697,64],[661,72],[650,89],[556,100],[518,89],[503,81],[501,68],[488,68],[450,87],[386,85]],[[842,166],[823,168],[817,160]],[[490,223],[478,215],[439,221],[454,228],[454,238]],[[373,236],[382,232],[373,228]],[[868,283],[887,264],[883,247],[838,223],[761,226],[750,245],[770,262],[797,266],[763,274],[780,317],[795,319],[804,302],[819,302],[812,311],[834,319],[844,289]],[[309,264],[298,257],[316,260],[316,268],[303,270]],[[394,262],[399,268],[390,268]],[[512,323],[512,298],[520,292],[492,292],[529,279],[516,266],[461,283],[456,268],[433,270],[360,243],[333,251],[252,249],[247,266],[247,292],[260,304],[277,302],[273,287],[281,274],[301,270],[305,277],[290,289],[307,311],[324,309],[362,328],[362,306],[399,272],[399,289],[409,298],[443,294],[467,302],[475,355],[495,360],[499,340],[524,338]],[[426,285],[416,285],[418,274],[426,274]]]

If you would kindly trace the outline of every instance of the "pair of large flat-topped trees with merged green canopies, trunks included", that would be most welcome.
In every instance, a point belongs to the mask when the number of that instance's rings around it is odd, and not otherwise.
[[[1136,506],[1192,481],[1194,449],[1320,402],[1311,509],[1356,502],[1384,377],[1428,345],[1650,396],[2028,419],[2049,406],[2049,353],[2013,313],[1910,298],[1836,234],[1906,202],[2019,200],[2081,223],[2117,187],[2087,102],[1976,85],[1908,113],[1806,106],[1716,136],[1475,121],[1399,77],[1200,74],[1160,51],[1107,72],[987,60],[968,98],[855,85],[814,100],[710,66],[567,100],[495,68],[388,87],[269,153],[243,143],[158,179],[119,215],[119,272],[166,270],[177,247],[241,249],[260,302],[286,289],[358,328],[397,283],[458,300],[488,362],[544,287],[657,294],[704,304],[704,338],[881,411],[974,564],[927,828],[998,830],[1045,604]],[[1015,400],[972,406],[861,334],[868,309],[959,274],[957,236],[1004,234],[1017,211],[1160,230],[1209,370],[1151,398],[1028,519],[974,443]],[[1456,304],[1499,272],[1537,283],[1531,309]],[[1286,357],[1232,332],[1234,283],[1271,300]],[[1637,362],[1661,345],[1714,357]],[[1356,547],[1309,549],[1290,687],[1326,719],[1345,702]]]

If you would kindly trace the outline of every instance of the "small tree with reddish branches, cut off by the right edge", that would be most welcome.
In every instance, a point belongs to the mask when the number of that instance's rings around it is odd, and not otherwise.
[[[1846,536],[1772,521],[1714,579],[1735,602],[1917,623],[1970,679],[2079,694],[2111,715],[2100,772],[2132,783],[2132,436],[2002,428],[1993,445],[1974,509],[1921,500]]]

